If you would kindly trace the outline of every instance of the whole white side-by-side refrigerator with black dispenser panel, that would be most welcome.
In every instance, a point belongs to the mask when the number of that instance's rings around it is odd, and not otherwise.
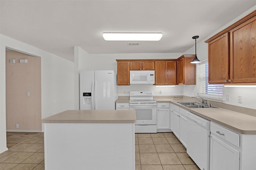
[[[113,70],[80,71],[80,110],[114,110],[116,82]]]

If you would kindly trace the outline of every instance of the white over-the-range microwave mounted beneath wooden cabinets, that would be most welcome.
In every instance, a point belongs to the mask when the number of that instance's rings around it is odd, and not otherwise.
[[[155,70],[131,70],[130,84],[155,84]]]

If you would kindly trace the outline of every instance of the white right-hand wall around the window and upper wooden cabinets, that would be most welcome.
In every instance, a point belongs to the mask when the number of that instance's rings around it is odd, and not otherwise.
[[[226,27],[232,25],[236,21],[240,20],[241,18],[245,17],[246,15],[250,14],[252,11],[256,10],[256,6],[250,8],[234,20],[230,21],[220,29],[216,30],[214,33],[206,37],[206,39],[200,39],[199,42],[196,43],[196,52],[197,52],[197,57],[200,61],[204,61],[208,59],[208,44],[204,43],[207,39],[215,35],[216,33],[222,31]],[[198,33],[200,37],[200,33]],[[184,54],[193,54],[195,51],[195,46],[188,49]],[[186,88],[186,87],[185,87]],[[185,90],[184,89],[184,95],[185,96],[194,96],[197,92],[197,87],[193,89],[193,92],[190,90]],[[224,87],[224,103],[226,104],[231,104],[231,105],[236,105],[236,106],[242,106],[242,107],[249,107],[252,109],[256,109],[256,88],[242,88],[242,87]],[[230,101],[226,101],[226,95],[230,95]],[[242,96],[242,104],[238,103],[238,96]]]

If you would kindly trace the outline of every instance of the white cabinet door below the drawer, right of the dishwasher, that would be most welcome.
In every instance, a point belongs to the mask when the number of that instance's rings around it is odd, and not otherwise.
[[[210,138],[210,170],[239,170],[239,150],[215,135]]]

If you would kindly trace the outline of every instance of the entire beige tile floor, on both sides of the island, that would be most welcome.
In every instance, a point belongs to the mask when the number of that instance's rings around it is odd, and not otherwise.
[[[12,147],[0,154],[0,170],[44,170],[43,133],[7,133],[7,143]],[[136,170],[199,170],[173,133],[136,133],[135,161]]]

